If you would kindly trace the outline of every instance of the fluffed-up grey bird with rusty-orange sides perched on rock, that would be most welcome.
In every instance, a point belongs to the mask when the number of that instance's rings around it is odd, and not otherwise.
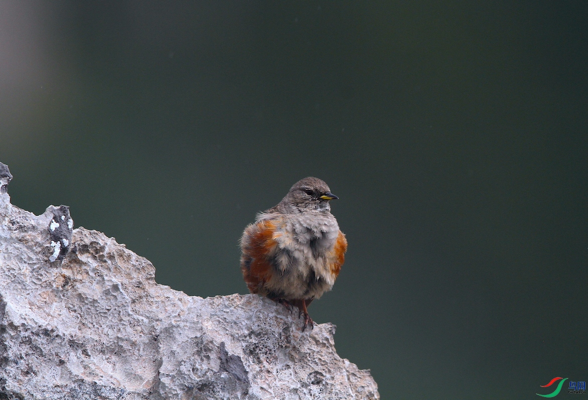
[[[260,212],[240,239],[240,267],[250,293],[282,303],[304,316],[307,307],[333,288],[345,262],[347,239],[330,213],[339,199],[319,178],[296,182],[278,205]]]

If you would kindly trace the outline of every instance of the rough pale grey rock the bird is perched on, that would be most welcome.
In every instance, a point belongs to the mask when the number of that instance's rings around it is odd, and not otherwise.
[[[378,399],[335,352],[256,295],[187,296],[69,210],[10,204],[0,163],[0,399]],[[59,225],[59,226],[56,226]],[[51,229],[53,228],[53,229]]]

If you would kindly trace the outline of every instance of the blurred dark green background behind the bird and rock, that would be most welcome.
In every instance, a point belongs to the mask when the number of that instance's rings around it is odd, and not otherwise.
[[[198,296],[246,293],[243,228],[322,178],[349,252],[310,314],[382,398],[538,399],[588,380],[587,21],[585,1],[4,1],[0,161],[13,204],[69,205]]]

